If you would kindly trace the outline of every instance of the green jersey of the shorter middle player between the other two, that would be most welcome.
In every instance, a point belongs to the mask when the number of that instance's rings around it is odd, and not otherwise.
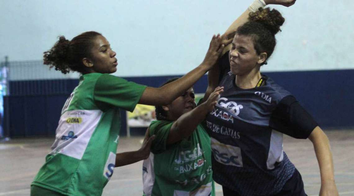
[[[144,194],[214,196],[209,135],[198,125],[188,138],[167,145],[172,124],[153,121],[149,127],[149,135],[156,138],[149,158],[143,162]]]

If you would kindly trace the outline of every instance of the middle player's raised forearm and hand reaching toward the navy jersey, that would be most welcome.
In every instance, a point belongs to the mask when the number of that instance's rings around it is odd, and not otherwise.
[[[214,109],[217,98],[223,92],[223,89],[223,87],[217,87],[206,102],[180,116],[173,123],[166,143],[173,144],[189,137],[194,129],[205,119],[205,116]]]

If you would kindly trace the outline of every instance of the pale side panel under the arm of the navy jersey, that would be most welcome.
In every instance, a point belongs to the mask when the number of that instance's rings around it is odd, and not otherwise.
[[[273,130],[270,136],[267,168],[274,169],[275,162],[281,162],[283,158],[283,134]]]

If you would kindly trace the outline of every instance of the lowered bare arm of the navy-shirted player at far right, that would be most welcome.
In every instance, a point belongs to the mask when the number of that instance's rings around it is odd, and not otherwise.
[[[317,126],[310,134],[309,139],[313,143],[320,167],[320,196],[338,196],[338,190],[334,180],[332,152],[326,134]]]

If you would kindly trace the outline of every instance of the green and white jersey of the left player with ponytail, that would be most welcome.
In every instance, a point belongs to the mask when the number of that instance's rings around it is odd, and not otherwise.
[[[32,185],[70,196],[101,195],[115,165],[119,109],[133,111],[145,88],[109,74],[81,76]]]

